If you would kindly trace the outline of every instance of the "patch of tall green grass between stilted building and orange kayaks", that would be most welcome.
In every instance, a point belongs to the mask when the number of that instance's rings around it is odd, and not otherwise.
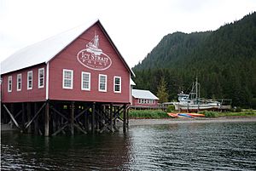
[[[131,118],[147,118],[147,119],[160,119],[168,117],[166,111],[160,110],[131,110],[129,111],[129,116]]]

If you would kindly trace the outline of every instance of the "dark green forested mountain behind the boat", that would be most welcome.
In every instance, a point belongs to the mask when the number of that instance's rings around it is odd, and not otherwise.
[[[256,12],[216,31],[168,34],[132,70],[136,88],[154,94],[163,77],[169,100],[197,76],[201,97],[256,108]]]

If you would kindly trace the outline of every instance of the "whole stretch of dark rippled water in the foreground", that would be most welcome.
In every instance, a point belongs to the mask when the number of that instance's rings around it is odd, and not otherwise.
[[[2,133],[3,170],[256,170],[256,123],[134,126],[44,138]]]

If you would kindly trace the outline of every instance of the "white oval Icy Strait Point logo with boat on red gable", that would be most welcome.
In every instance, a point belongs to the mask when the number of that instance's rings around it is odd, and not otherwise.
[[[107,70],[112,65],[112,60],[107,54],[104,54],[99,46],[99,36],[95,34],[86,48],[77,54],[79,63],[91,70]]]

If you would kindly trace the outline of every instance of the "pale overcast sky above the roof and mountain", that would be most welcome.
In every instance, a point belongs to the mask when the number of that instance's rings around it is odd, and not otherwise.
[[[129,66],[166,34],[214,31],[256,10],[256,0],[0,0],[0,61],[16,50],[100,19]]]

